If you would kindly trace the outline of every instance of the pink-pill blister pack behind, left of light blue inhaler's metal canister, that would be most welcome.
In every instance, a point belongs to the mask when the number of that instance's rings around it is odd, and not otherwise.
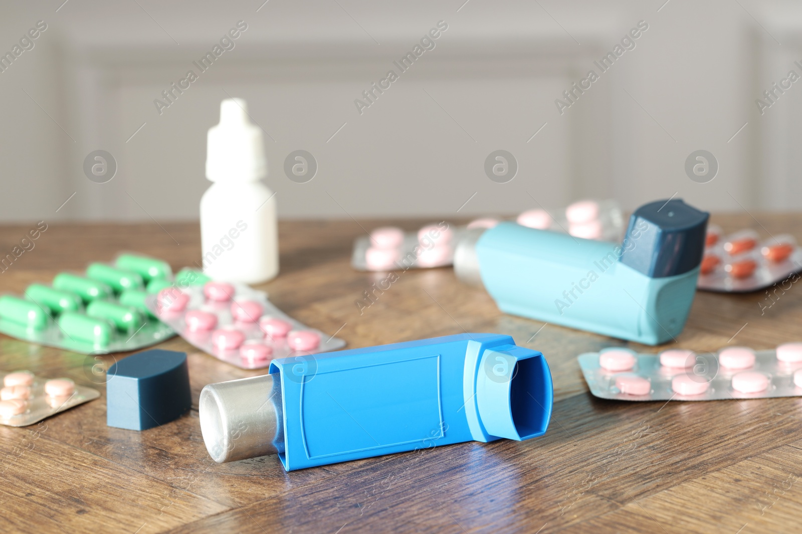
[[[354,241],[351,266],[357,271],[395,271],[445,267],[454,260],[454,246],[464,229],[445,221],[416,232],[379,227]]]

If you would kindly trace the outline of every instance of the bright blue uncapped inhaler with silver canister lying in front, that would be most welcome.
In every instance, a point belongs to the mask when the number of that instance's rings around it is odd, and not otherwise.
[[[463,441],[542,436],[545,357],[508,335],[460,334],[315,358],[209,384],[201,432],[217,462],[277,454],[287,471]]]

